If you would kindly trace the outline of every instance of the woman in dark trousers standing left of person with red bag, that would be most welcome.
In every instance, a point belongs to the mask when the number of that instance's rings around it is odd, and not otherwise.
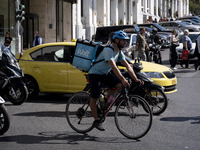
[[[171,39],[170,39],[170,43],[171,43],[171,46],[170,46],[171,67],[170,68],[172,70],[177,69],[177,68],[175,68],[177,61],[178,61],[178,53],[177,53],[176,47],[179,45],[179,40],[176,39],[177,33],[178,32],[176,29],[172,30],[172,35],[171,35]]]

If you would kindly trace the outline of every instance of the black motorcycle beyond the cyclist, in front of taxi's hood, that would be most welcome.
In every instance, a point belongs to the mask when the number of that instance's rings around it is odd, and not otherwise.
[[[139,59],[135,60],[133,64],[133,70],[138,79],[144,82],[143,85],[138,85],[129,76],[126,70],[120,70],[124,77],[132,80],[129,94],[137,94],[143,97],[151,107],[153,115],[159,115],[163,113],[168,106],[168,99],[164,93],[164,87],[153,83],[153,80],[141,70],[143,69]]]

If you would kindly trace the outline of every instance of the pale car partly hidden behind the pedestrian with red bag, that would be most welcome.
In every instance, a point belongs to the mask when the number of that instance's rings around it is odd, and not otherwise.
[[[194,52],[195,52],[195,46],[196,46],[196,39],[197,39],[197,36],[199,35],[200,33],[199,32],[190,32],[189,33],[189,37],[190,39],[192,40],[192,48],[190,50],[190,63],[193,63],[195,61],[197,61],[197,58],[194,56]],[[178,35],[178,39],[179,39],[179,46],[176,47],[176,50],[178,52],[178,61],[183,61],[181,59],[181,54],[182,54],[182,51],[183,51],[183,41],[182,41],[182,37],[183,37],[183,34],[180,34]],[[169,53],[169,61],[171,62],[171,54]]]

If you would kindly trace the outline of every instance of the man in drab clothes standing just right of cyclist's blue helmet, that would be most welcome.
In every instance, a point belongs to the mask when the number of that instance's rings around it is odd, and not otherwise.
[[[145,49],[149,50],[148,44],[145,40],[145,28],[140,28],[140,33],[137,34],[136,37],[136,47],[135,51],[138,52],[138,58],[140,58],[143,61],[147,60],[147,56],[145,54]]]

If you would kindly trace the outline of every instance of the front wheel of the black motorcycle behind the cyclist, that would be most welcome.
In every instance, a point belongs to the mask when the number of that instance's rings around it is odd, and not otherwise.
[[[153,115],[163,113],[168,105],[166,94],[160,89],[151,89],[144,95],[144,99],[148,102]]]

